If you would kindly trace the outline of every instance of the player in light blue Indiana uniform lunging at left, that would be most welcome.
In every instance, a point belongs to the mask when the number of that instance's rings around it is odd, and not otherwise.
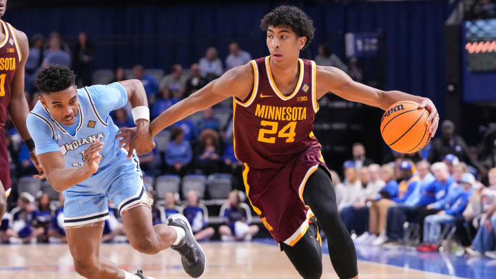
[[[146,278],[141,271],[133,275],[99,256],[103,223],[109,218],[107,199],[112,199],[134,249],[156,254],[172,247],[189,276],[199,277],[205,254],[186,218],[175,214],[168,225],[152,225],[153,200],[143,186],[138,158],[134,154],[128,159],[116,140],[118,128],[109,114],[130,101],[141,134],[137,140],[153,141],[141,81],[78,90],[69,68],[50,65],[37,74],[35,83],[41,97],[26,122],[43,168],[41,178],[65,196],[64,227],[77,273],[85,278]]]

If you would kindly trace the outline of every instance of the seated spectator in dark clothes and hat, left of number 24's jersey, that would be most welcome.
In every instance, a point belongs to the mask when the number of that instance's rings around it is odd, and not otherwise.
[[[219,171],[219,136],[215,130],[205,129],[200,134],[200,146],[196,152],[196,168],[206,176]]]

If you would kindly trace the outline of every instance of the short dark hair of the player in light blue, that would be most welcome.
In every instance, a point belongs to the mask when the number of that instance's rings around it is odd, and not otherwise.
[[[43,93],[58,92],[76,84],[74,72],[64,65],[50,65],[37,72],[34,85]]]

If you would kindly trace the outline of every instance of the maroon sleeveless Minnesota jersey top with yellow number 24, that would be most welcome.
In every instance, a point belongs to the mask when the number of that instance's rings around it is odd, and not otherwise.
[[[254,88],[245,101],[234,99],[234,151],[251,169],[280,168],[311,147],[320,149],[313,136],[318,111],[316,63],[299,59],[296,88],[284,96],[273,81],[270,56],[250,61]]]

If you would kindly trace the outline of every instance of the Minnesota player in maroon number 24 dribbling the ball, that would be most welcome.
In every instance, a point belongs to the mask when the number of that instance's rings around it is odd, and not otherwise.
[[[234,149],[244,163],[247,196],[265,227],[303,278],[322,276],[318,227],[327,236],[339,278],[358,278],[355,247],[339,217],[331,176],[312,132],[317,101],[327,92],[382,110],[398,101],[416,101],[430,112],[431,135],[439,121],[437,110],[429,99],[377,90],[337,68],[299,59],[314,28],[296,7],[272,10],[260,27],[267,32],[270,56],[231,69],[176,103],[150,124],[150,134],[234,97]],[[149,147],[135,146],[134,131],[122,129],[121,144],[129,144],[130,152],[136,149],[138,154],[153,148],[151,141]]]

